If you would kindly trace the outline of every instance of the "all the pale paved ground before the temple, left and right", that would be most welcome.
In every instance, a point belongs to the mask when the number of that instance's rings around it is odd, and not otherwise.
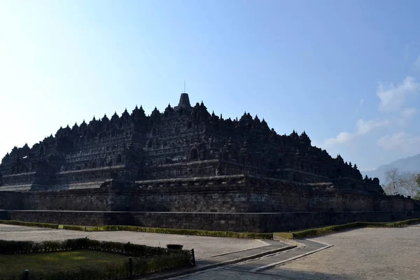
[[[276,241],[225,237],[145,232],[78,232],[0,225],[0,239],[41,241],[78,237],[130,241],[162,247],[169,243],[183,244],[185,248],[195,248],[198,267],[206,265],[212,255],[245,250],[216,257],[219,261],[224,261],[230,255],[235,255],[235,258],[244,257],[285,245]],[[300,242],[304,246],[172,279],[420,279],[420,225],[405,228],[363,228]],[[328,244],[332,246],[328,247]],[[305,255],[307,253],[311,254]],[[305,256],[300,258],[301,255]],[[290,258],[297,259],[276,265]]]

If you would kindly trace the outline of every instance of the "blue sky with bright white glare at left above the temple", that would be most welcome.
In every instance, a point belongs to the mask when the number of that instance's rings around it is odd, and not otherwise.
[[[0,1],[0,154],[186,91],[374,169],[420,153],[419,1]]]

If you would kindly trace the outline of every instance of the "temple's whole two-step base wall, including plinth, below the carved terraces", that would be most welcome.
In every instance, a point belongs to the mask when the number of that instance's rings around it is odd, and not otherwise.
[[[420,217],[404,197],[344,192],[332,183],[303,184],[244,175],[105,181],[59,191],[0,192],[3,218],[67,225],[138,225],[276,232],[354,221]],[[5,216],[6,215],[6,216]]]

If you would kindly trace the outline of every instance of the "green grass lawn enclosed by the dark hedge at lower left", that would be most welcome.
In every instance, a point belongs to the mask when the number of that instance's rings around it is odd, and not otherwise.
[[[0,276],[17,274],[25,269],[41,272],[99,265],[105,262],[119,262],[127,259],[126,255],[90,250],[0,255]]]

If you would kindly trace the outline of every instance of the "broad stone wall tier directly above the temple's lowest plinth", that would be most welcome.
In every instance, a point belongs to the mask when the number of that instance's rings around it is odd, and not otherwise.
[[[332,184],[302,184],[244,175],[106,181],[100,188],[0,192],[0,209],[276,213],[412,211],[402,197],[344,193]]]

